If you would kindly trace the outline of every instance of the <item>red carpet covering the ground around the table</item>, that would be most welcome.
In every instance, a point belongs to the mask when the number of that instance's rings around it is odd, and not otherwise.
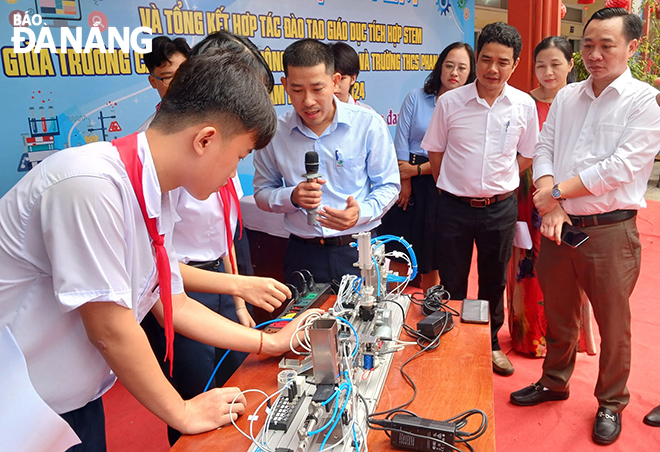
[[[642,239],[642,273],[631,299],[633,315],[633,361],[628,382],[630,404],[623,413],[619,440],[605,446],[612,452],[660,450],[660,428],[642,423],[644,415],[660,405],[656,359],[660,342],[660,313],[657,290],[660,288],[660,202],[648,201],[637,226]],[[474,267],[474,266],[473,266]],[[475,297],[476,274],[470,275],[470,294]],[[596,340],[598,343],[598,338]],[[511,350],[506,324],[500,333],[505,351]],[[571,397],[563,402],[549,402],[536,407],[517,407],[509,403],[509,394],[533,382],[541,375],[541,359],[528,358],[511,351],[509,358],[516,368],[511,377],[494,375],[495,426],[500,452],[600,451],[591,441],[591,428],[598,405],[593,390],[598,373],[598,356],[578,355],[571,379]],[[104,396],[109,452],[161,452],[169,450],[166,427],[117,383]],[[222,449],[222,448],[220,448]]]

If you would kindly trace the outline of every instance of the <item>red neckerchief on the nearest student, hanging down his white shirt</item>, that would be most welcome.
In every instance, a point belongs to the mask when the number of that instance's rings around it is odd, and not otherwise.
[[[151,237],[151,243],[156,251],[156,268],[158,270],[158,285],[160,286],[160,300],[163,303],[165,316],[165,360],[170,360],[170,376],[174,365],[174,323],[172,321],[172,271],[170,261],[165,249],[164,236],[158,233],[155,218],[149,218],[147,207],[144,202],[144,189],[142,187],[142,162],[137,155],[137,133],[123,138],[112,140],[112,145],[117,148],[119,158],[126,167],[128,178],[133,186],[144,223]]]

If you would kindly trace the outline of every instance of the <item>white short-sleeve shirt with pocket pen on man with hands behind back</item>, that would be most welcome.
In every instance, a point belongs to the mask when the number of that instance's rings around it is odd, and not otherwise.
[[[428,152],[444,152],[438,188],[474,198],[518,188],[517,156],[532,158],[539,134],[529,94],[505,84],[491,106],[479,97],[476,83],[438,98],[421,145]]]

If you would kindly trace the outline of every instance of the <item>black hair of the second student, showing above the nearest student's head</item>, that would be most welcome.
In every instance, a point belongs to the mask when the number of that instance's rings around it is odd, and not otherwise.
[[[193,47],[190,56],[202,55],[211,49],[220,49],[237,55],[243,63],[257,71],[263,78],[268,92],[273,91],[275,79],[259,48],[245,36],[227,30],[211,33]]]

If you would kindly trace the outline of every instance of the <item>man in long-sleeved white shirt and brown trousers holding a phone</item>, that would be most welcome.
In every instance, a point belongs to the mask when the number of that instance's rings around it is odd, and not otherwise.
[[[511,394],[529,406],[569,396],[580,326],[580,287],[601,337],[598,411],[592,438],[611,444],[630,400],[630,305],[641,262],[637,211],[660,143],[657,91],[635,80],[628,59],[642,21],[623,8],[594,13],[584,28],[582,58],[590,77],[561,90],[534,153],[534,203],[543,215],[538,277],[548,323],[538,383]],[[572,224],[589,239],[562,243]]]

